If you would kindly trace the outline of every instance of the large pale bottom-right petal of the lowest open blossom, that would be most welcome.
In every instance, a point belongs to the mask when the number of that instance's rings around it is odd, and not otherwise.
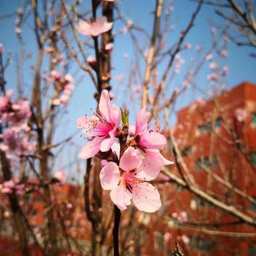
[[[144,212],[155,212],[162,205],[158,190],[147,182],[132,186],[132,202]]]

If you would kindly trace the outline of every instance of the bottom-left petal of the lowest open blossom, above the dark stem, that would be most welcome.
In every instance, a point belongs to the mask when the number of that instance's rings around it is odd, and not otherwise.
[[[126,206],[131,204],[132,194],[125,186],[121,185],[111,190],[110,198],[120,210],[125,210]]]

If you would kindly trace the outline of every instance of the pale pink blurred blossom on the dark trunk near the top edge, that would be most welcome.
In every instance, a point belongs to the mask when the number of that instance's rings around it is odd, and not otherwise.
[[[87,22],[81,20],[77,28],[78,32],[86,36],[98,36],[102,33],[107,32],[113,27],[113,22],[108,22],[107,17],[103,16],[96,21]]]

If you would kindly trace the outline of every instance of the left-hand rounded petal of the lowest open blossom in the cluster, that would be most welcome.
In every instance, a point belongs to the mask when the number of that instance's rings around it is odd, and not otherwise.
[[[101,187],[105,190],[116,188],[120,178],[119,168],[114,162],[108,162],[100,171]]]

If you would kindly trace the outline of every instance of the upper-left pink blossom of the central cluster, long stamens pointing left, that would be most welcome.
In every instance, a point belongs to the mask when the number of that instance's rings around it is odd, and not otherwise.
[[[111,105],[107,90],[103,90],[100,97],[99,109],[94,116],[84,116],[77,119],[77,127],[93,139],[83,147],[80,157],[87,159],[98,153],[108,151],[110,148],[119,154],[120,145],[115,140],[121,122],[121,111],[116,105]]]

